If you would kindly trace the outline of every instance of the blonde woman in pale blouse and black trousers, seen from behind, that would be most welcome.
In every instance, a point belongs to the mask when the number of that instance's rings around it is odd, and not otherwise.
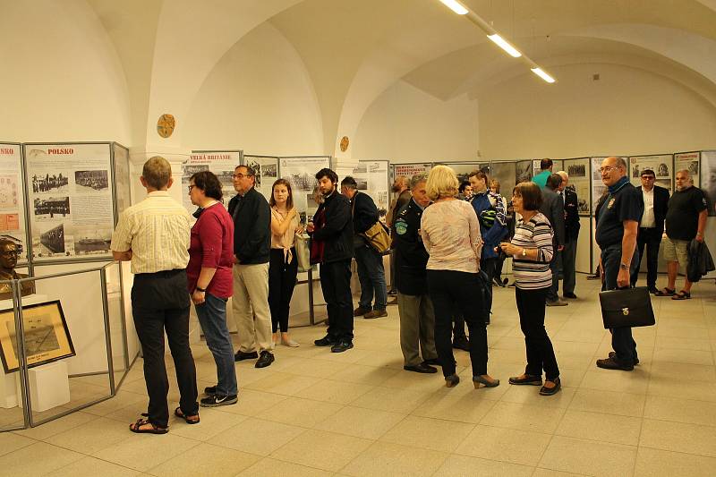
[[[487,373],[487,329],[482,316],[480,254],[482,236],[477,215],[465,200],[457,200],[457,177],[447,166],[435,166],[428,175],[426,188],[435,203],[422,213],[421,236],[428,259],[428,294],[435,309],[435,347],[445,377],[452,388],[460,381],[453,356],[452,316],[460,311],[470,330],[470,361],[473,384],[488,388],[499,379]]]

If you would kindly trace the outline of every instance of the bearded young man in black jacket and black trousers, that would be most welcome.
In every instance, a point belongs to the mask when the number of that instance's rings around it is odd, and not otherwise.
[[[338,176],[328,168],[316,173],[324,200],[306,228],[313,241],[320,243],[320,288],[328,310],[328,335],[313,343],[331,346],[333,353],[353,347],[353,296],[351,259],[353,258],[353,220],[351,203],[337,191]]]

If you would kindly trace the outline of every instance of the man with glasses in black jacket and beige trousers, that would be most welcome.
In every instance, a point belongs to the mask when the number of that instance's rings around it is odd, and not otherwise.
[[[268,310],[268,254],[271,249],[271,209],[255,188],[251,167],[234,170],[229,214],[234,217],[234,296],[232,311],[239,336],[235,361],[259,358],[257,368],[274,362],[271,352],[271,313]],[[258,345],[260,356],[256,353]]]

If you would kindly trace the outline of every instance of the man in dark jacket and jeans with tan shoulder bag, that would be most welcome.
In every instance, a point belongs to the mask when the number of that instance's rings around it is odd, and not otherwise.
[[[388,316],[388,290],[383,256],[371,247],[362,235],[378,222],[378,208],[370,195],[358,192],[358,184],[350,175],[341,181],[341,193],[351,201],[354,256],[358,266],[358,279],[361,282],[361,299],[353,316],[362,316],[365,319]],[[375,306],[372,305],[373,296]]]

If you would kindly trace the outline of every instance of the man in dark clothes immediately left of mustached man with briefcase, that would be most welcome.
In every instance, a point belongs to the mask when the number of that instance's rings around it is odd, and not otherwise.
[[[562,251],[562,295],[575,299],[576,243],[579,238],[579,200],[574,189],[567,188],[569,175],[557,173],[562,178],[557,195],[565,205],[565,250]]]

